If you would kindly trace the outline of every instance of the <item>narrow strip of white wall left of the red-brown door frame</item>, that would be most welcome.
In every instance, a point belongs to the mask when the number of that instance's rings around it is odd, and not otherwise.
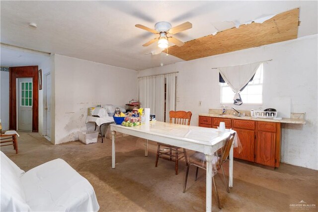
[[[0,71],[0,119],[2,130],[9,129],[9,72]]]

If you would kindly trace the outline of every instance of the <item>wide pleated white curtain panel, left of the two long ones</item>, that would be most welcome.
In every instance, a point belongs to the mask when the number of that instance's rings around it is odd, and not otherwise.
[[[143,108],[150,108],[158,121],[164,121],[164,75],[138,79],[139,102]]]

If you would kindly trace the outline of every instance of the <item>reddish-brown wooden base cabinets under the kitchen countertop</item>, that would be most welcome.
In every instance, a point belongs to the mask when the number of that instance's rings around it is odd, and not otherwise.
[[[221,121],[225,122],[226,128],[233,128],[238,133],[242,151],[239,153],[235,148],[235,158],[279,167],[281,123],[199,116],[199,126],[203,127],[217,128]]]

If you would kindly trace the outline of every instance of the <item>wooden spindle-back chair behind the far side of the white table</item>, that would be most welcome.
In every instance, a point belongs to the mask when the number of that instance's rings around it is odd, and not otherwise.
[[[190,125],[191,116],[192,116],[192,112],[190,111],[186,112],[182,110],[179,110],[179,111],[171,110],[169,112],[170,123]],[[168,161],[174,161],[175,174],[177,175],[178,163],[181,158],[185,158],[186,165],[188,165],[185,148],[171,146],[171,145],[163,144],[163,143],[157,143],[157,144],[158,144],[158,149],[157,149],[157,156],[156,156],[156,167],[158,166],[159,158],[162,158]]]

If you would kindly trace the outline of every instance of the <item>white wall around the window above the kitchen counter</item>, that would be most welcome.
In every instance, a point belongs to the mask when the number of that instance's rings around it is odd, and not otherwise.
[[[282,124],[281,161],[318,170],[317,34],[300,39],[245,49],[222,55],[179,62],[139,71],[138,77],[179,71],[177,110],[198,114],[221,108],[219,74],[213,67],[241,65],[273,59],[264,64],[263,105],[235,106],[239,110],[272,107],[273,97],[290,97],[291,112],[306,112],[306,124]],[[202,105],[199,106],[199,101]],[[228,108],[231,108],[229,105]]]

